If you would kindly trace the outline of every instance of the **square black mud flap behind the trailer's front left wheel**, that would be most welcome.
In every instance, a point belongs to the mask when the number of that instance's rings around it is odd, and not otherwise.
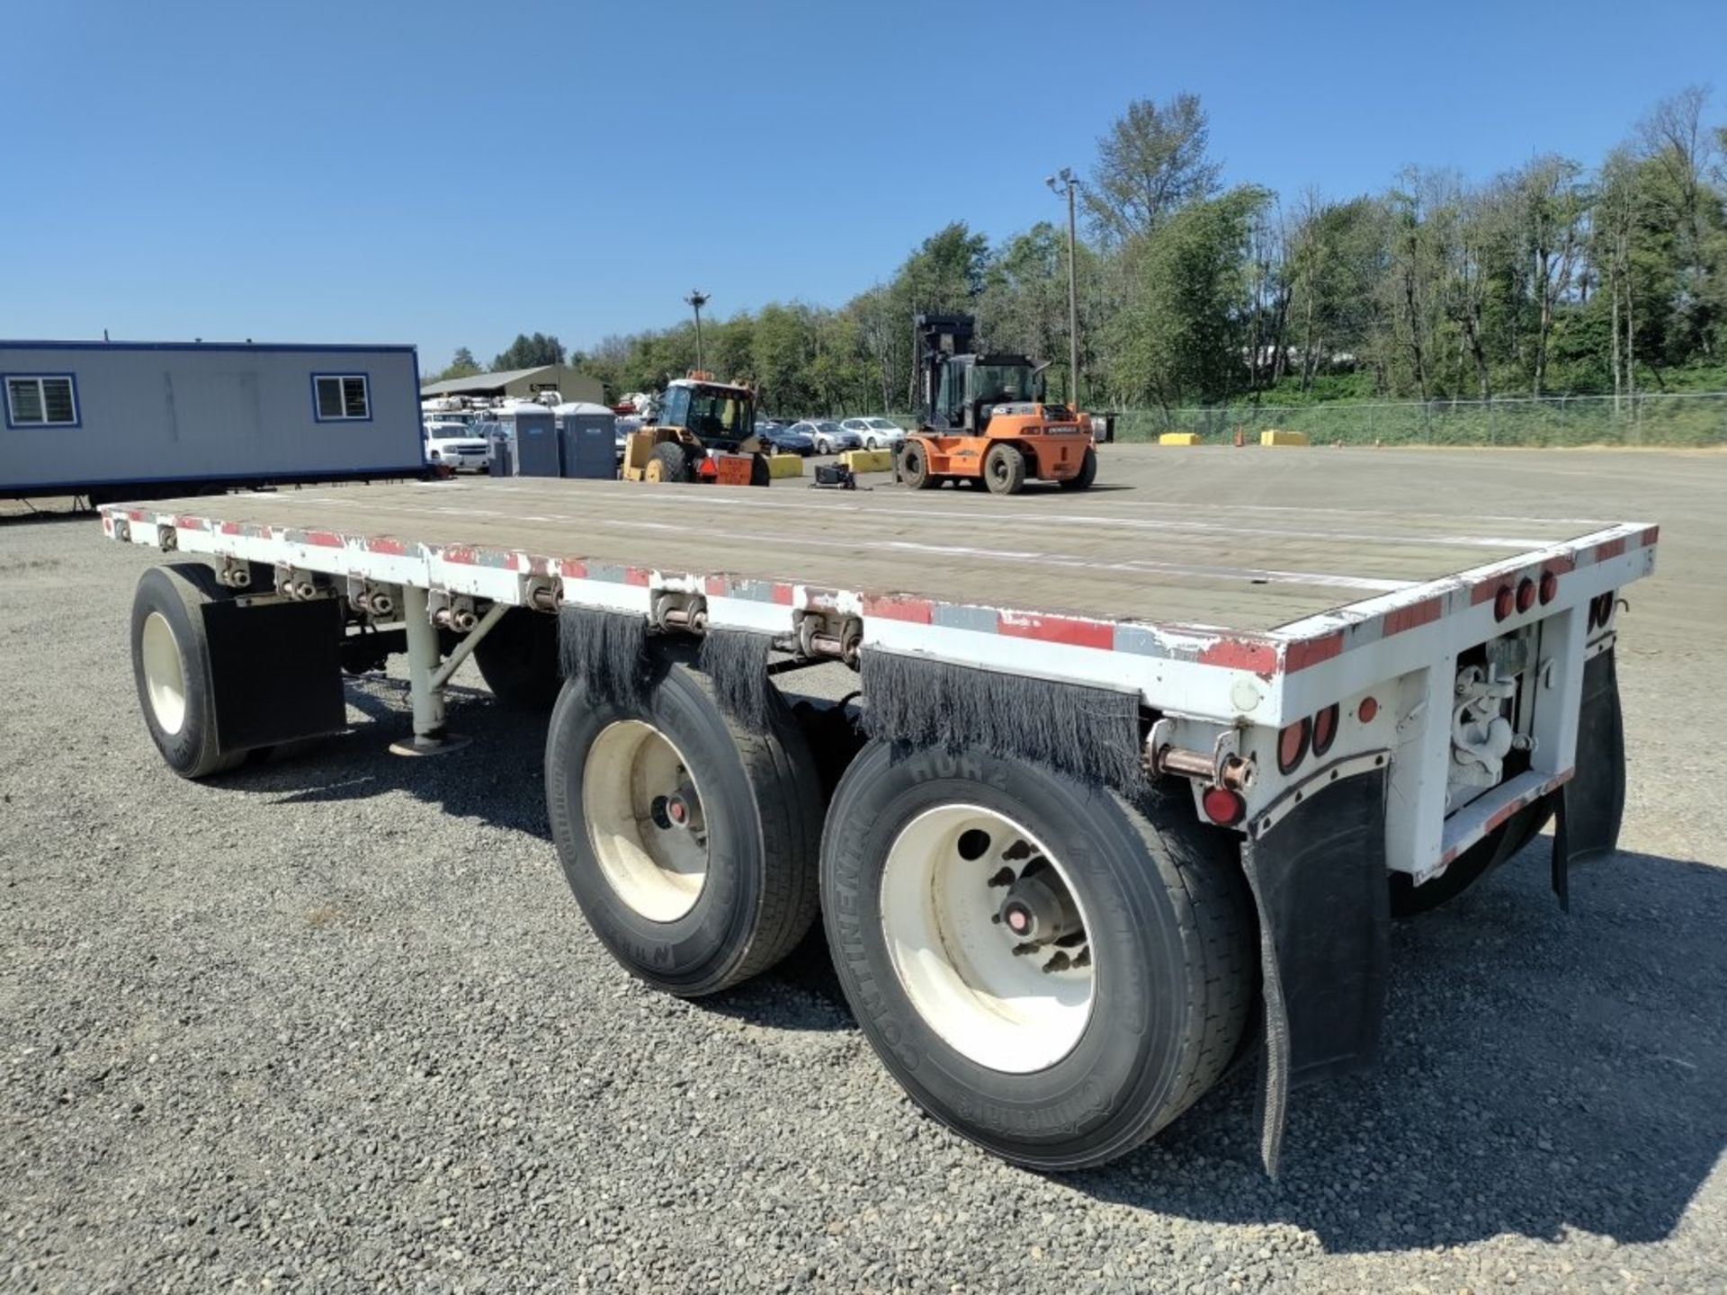
[[[204,637],[218,749],[250,751],[347,729],[337,599],[206,603]]]

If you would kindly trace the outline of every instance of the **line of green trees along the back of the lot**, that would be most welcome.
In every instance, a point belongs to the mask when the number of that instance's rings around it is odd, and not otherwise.
[[[1129,104],[1081,180],[1078,397],[1173,409],[1722,387],[1727,128],[1706,109],[1701,88],[1661,100],[1594,166],[1409,167],[1333,199],[1224,188],[1195,95]],[[703,359],[753,380],[769,411],[908,411],[912,318],[971,311],[988,349],[1053,361],[1052,394],[1067,395],[1067,256],[1050,221],[1000,242],[955,221],[845,306],[705,319]],[[496,368],[563,357],[522,335]],[[570,363],[613,397],[655,390],[694,368],[694,326],[606,337]]]

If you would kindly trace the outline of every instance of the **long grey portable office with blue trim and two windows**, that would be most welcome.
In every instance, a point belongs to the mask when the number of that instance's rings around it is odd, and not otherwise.
[[[0,497],[418,477],[413,347],[0,340]]]

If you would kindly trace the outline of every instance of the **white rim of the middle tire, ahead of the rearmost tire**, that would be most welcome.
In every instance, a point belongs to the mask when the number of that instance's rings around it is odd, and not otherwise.
[[[689,827],[670,822],[682,796]],[[608,723],[582,770],[582,818],[606,884],[649,922],[675,922],[708,881],[701,791],[672,741],[641,720]]]

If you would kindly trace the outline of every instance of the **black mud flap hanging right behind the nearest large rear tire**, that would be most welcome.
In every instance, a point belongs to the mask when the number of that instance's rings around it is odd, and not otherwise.
[[[1259,1153],[1273,1178],[1288,1091],[1378,1058],[1390,939],[1385,779],[1382,761],[1326,782],[1242,846],[1266,1007]]]

